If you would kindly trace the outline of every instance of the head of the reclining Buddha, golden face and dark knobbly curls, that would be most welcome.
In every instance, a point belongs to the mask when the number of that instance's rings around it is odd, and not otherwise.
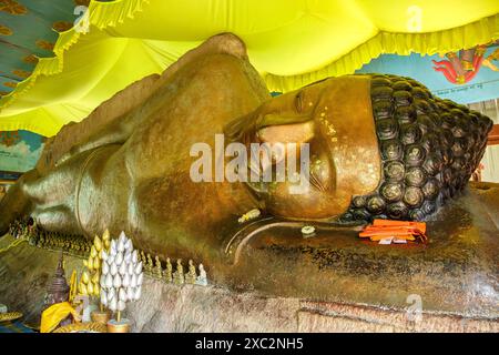
[[[271,214],[421,220],[464,189],[490,126],[488,118],[434,98],[414,80],[348,75],[275,97],[230,122],[225,134],[248,151],[252,143],[285,146],[272,150],[265,166],[248,160],[249,171],[264,172],[291,159],[308,172],[299,172],[308,175],[308,189],[296,189],[302,182],[292,176],[278,181],[277,169],[271,182],[247,183]]]

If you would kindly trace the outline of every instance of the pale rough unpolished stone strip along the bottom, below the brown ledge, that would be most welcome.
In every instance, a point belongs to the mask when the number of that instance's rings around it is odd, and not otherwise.
[[[126,316],[133,332],[498,332],[499,321],[366,305],[262,297],[213,286],[182,287],[147,280]]]

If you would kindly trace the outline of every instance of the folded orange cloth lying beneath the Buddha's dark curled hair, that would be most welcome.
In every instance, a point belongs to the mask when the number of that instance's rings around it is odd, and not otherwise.
[[[374,220],[359,234],[360,237],[369,237],[371,241],[394,237],[397,240],[415,241],[416,239],[426,243],[426,223],[408,221]]]

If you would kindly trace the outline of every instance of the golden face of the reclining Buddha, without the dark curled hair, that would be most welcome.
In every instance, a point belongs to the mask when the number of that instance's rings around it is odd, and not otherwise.
[[[381,162],[369,84],[364,77],[327,79],[273,98],[226,126],[228,138],[244,143],[248,151],[251,143],[285,148],[275,151],[267,165],[248,163],[253,172],[258,168],[262,174],[273,171],[271,182],[247,183],[269,213],[327,221],[344,213],[353,195],[376,189]],[[302,150],[305,143],[308,154]],[[308,164],[303,164],[306,160]],[[277,180],[276,166],[283,161],[287,166],[297,166],[297,176]],[[304,184],[303,179],[308,183]]]

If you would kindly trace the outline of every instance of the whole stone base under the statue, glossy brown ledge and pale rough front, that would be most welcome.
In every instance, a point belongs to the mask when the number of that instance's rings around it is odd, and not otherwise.
[[[205,265],[226,288],[146,277],[123,314],[131,331],[499,332],[499,184],[471,184],[450,202],[428,221],[427,245],[318,225],[304,239],[292,224],[243,235],[226,261]],[[0,250],[12,242],[1,237]],[[59,256],[27,243],[0,253],[0,304],[39,323]],[[82,267],[65,257],[68,277]]]

